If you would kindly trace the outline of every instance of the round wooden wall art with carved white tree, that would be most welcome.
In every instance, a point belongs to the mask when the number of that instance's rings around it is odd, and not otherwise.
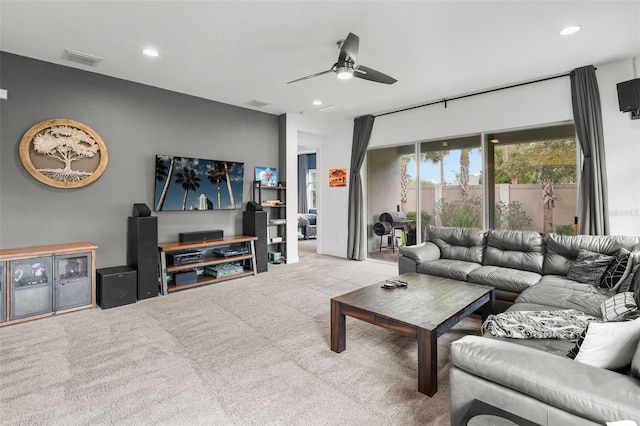
[[[20,141],[20,161],[40,182],[56,188],[80,188],[107,168],[107,147],[91,127],[54,118],[32,126]]]

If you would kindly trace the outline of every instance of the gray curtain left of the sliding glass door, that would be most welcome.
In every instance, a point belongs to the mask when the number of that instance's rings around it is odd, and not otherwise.
[[[349,170],[349,222],[347,234],[347,257],[353,260],[367,258],[367,243],[364,235],[364,194],[360,169],[369,146],[373,115],[358,117],[353,122],[353,142],[351,147],[351,169]]]

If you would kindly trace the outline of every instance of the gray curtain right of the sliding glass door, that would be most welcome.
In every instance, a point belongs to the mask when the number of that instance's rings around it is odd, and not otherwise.
[[[607,169],[602,136],[600,94],[593,65],[571,73],[573,120],[583,162],[578,188],[578,232],[609,234]]]

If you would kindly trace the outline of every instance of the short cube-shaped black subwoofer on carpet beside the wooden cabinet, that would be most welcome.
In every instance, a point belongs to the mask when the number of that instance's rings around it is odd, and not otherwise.
[[[136,270],[114,266],[96,271],[96,301],[102,309],[136,303]]]

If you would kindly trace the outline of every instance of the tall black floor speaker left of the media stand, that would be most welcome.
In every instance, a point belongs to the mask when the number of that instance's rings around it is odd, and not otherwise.
[[[138,300],[158,295],[158,218],[129,217],[127,265],[138,271]]]

